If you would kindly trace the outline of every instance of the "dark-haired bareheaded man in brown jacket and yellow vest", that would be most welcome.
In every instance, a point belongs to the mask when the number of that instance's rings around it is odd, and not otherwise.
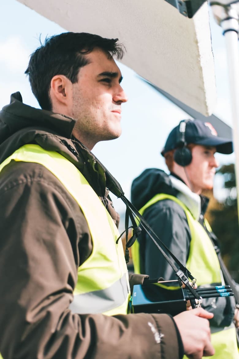
[[[122,54],[117,39],[51,37],[26,71],[42,109],[23,104],[18,92],[0,112],[4,359],[214,353],[205,319],[212,314],[201,308],[174,319],[127,314],[130,280],[106,192],[114,180],[90,152],[121,134],[127,97],[112,55]]]

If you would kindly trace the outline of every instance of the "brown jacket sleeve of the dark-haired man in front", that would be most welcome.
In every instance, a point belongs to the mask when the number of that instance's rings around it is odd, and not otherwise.
[[[167,314],[69,310],[90,235],[79,206],[45,168],[21,162],[4,168],[0,218],[4,359],[182,358]]]

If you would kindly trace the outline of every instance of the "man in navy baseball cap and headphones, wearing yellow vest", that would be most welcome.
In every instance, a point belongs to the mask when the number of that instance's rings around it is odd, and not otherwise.
[[[232,141],[219,137],[209,122],[183,120],[170,132],[161,152],[170,174],[157,168],[146,169],[133,181],[131,190],[133,205],[186,265],[198,287],[224,284],[215,251],[217,239],[204,219],[208,199],[201,195],[203,190],[213,187],[219,165],[216,152],[232,153]],[[135,272],[151,278],[177,279],[147,233],[142,233],[133,245],[132,256]],[[239,325],[239,314],[234,297],[203,299],[203,307],[214,313],[210,320],[214,357],[239,358],[233,323],[235,319]]]

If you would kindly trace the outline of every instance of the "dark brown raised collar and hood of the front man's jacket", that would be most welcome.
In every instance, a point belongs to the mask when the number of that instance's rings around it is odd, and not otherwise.
[[[12,94],[10,104],[0,111],[0,162],[25,144],[37,144],[66,157],[98,196],[104,196],[105,169],[88,148],[71,140],[75,122],[74,118],[25,105],[20,92]]]

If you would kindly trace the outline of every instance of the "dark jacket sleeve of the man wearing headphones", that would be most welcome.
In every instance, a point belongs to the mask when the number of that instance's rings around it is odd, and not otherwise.
[[[181,206],[168,199],[158,201],[145,211],[144,218],[174,256],[185,265],[191,234],[186,214]],[[150,278],[177,279],[174,270],[165,260],[159,249],[156,248],[148,234],[144,232],[143,237],[139,237],[139,241],[140,261],[144,268],[144,273],[148,274]],[[162,247],[160,242],[157,242]],[[170,257],[170,259],[172,258]],[[174,262],[174,260],[172,261]],[[175,262],[174,264],[178,267]]]

